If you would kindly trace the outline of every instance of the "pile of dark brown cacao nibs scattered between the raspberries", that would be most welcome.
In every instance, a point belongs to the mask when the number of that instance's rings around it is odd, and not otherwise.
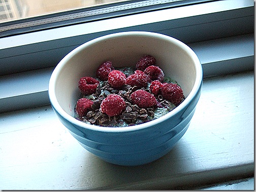
[[[93,101],[91,110],[87,112],[86,116],[79,118],[77,114],[75,117],[81,121],[104,127],[123,127],[123,126],[134,126],[142,124],[154,119],[154,111],[156,108],[164,107],[168,111],[173,110],[176,106],[168,100],[165,100],[162,95],[155,96],[157,104],[148,108],[140,108],[138,105],[132,103],[131,94],[138,90],[137,86],[132,87],[131,85],[124,84],[119,90],[113,89],[108,81],[102,82],[102,87],[98,85],[96,92],[87,96]],[[151,93],[148,86],[141,88]],[[110,117],[106,113],[101,111],[101,103],[109,94],[120,95],[126,104],[126,108],[119,116]]]

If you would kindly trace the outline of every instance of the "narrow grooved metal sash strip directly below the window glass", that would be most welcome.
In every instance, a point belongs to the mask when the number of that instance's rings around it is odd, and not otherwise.
[[[133,0],[59,11],[4,22],[0,37],[213,1],[218,0]]]

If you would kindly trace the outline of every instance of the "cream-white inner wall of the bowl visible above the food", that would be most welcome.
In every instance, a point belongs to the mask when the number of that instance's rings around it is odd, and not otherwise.
[[[96,69],[104,61],[112,61],[114,67],[135,67],[137,61],[147,54],[155,57],[157,65],[165,75],[179,83],[187,97],[197,77],[193,51],[166,35],[119,33],[87,42],[60,61],[54,70],[57,74],[54,90],[60,107],[74,116],[74,107],[80,96],[79,79],[95,76]]]

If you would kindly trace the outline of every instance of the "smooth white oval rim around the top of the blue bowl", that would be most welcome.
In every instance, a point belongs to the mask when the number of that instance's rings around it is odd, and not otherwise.
[[[121,129],[120,129],[120,127],[103,127],[103,126],[97,126],[97,125],[90,125],[90,124],[87,124],[87,123],[84,123],[84,122],[81,122],[81,121],[75,119],[70,114],[68,114],[64,109],[62,109],[62,107],[58,103],[57,98],[54,94],[55,93],[55,82],[56,82],[59,72],[61,71],[61,69],[63,67],[65,67],[66,61],[69,60],[70,58],[72,58],[74,55],[76,55],[76,53],[79,50],[89,47],[98,42],[106,41],[108,39],[112,39],[115,37],[127,36],[127,35],[156,37],[158,39],[172,41],[174,44],[176,44],[179,47],[182,47],[182,49],[187,51],[188,54],[190,54],[190,56],[195,61],[195,68],[196,68],[196,80],[195,80],[195,84],[194,84],[192,90],[190,91],[188,96],[184,99],[184,101],[181,104],[179,104],[172,111],[168,112],[167,114],[165,114],[164,116],[162,116],[160,118],[157,118],[155,120],[152,120],[152,121],[149,121],[149,122],[146,122],[143,124],[139,124],[139,125],[121,127]],[[79,126],[84,129],[93,130],[93,131],[129,132],[129,131],[138,131],[141,129],[145,129],[147,127],[154,126],[156,124],[159,124],[159,123],[166,121],[167,119],[173,117],[182,108],[185,108],[191,102],[191,100],[196,96],[196,94],[198,93],[198,91],[201,88],[202,82],[203,82],[203,69],[202,69],[201,62],[200,62],[198,56],[196,55],[196,53],[191,48],[189,48],[186,44],[184,44],[183,42],[175,39],[174,37],[171,37],[171,36],[168,36],[165,34],[161,34],[161,33],[156,33],[156,32],[125,31],[125,32],[111,33],[111,34],[97,37],[93,40],[90,40],[90,41],[78,46],[77,48],[72,50],[70,53],[68,53],[65,57],[63,57],[61,59],[61,61],[57,64],[57,66],[54,68],[54,70],[51,74],[50,81],[49,81],[48,94],[49,94],[50,103],[51,103],[52,107],[56,110],[56,112],[59,113],[59,115],[62,116],[62,118],[66,119],[67,121],[71,122],[72,124],[75,124],[76,126]]]

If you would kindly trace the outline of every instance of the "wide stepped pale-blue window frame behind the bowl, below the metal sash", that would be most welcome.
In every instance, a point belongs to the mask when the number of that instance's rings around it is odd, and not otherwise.
[[[201,60],[204,78],[254,69],[252,0],[137,13],[0,38],[0,87],[5,87],[0,112],[49,104],[49,76],[66,54],[98,36],[135,30],[167,34],[190,46]]]

